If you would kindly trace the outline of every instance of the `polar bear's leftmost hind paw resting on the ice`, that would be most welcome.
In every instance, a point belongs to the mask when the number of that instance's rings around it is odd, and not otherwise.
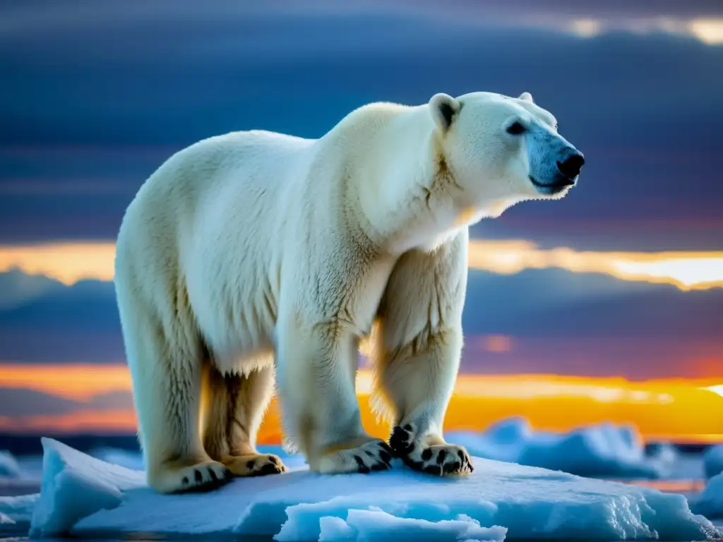
[[[197,493],[213,491],[231,480],[231,471],[216,461],[195,465],[163,465],[150,478],[150,485],[161,493]]]

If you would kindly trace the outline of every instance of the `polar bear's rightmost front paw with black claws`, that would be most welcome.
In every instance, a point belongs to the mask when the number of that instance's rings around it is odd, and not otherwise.
[[[468,474],[474,471],[472,461],[464,447],[455,444],[432,444],[416,434],[413,423],[396,426],[389,439],[398,457],[410,468],[423,473],[445,476]]]

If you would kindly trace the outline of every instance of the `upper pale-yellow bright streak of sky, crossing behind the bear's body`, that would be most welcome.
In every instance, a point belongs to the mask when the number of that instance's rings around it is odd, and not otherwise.
[[[95,278],[113,280],[113,243],[0,246],[0,272],[18,268],[66,285]],[[619,280],[675,285],[680,290],[723,287],[723,252],[602,252],[568,247],[539,249],[531,241],[469,243],[471,269],[511,275],[526,269],[557,267],[570,272],[604,273]]]

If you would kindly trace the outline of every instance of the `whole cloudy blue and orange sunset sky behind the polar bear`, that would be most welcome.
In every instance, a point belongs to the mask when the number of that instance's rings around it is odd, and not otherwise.
[[[720,1],[246,4],[0,5],[0,432],[133,431],[114,241],[171,153],[491,90],[531,92],[587,163],[562,201],[474,226],[459,391],[477,402],[455,408],[651,435],[673,412],[698,416],[682,439],[723,435]]]

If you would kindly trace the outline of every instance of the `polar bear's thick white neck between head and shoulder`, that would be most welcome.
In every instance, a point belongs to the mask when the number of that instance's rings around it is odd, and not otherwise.
[[[353,155],[360,221],[385,251],[432,249],[466,226],[432,117],[426,105],[372,107],[350,119],[362,135],[350,139],[364,141]]]

